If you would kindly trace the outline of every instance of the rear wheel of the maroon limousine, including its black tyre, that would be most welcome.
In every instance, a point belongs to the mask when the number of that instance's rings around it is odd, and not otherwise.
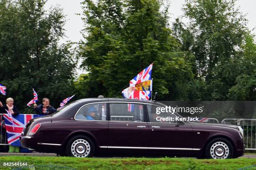
[[[93,141],[87,136],[78,135],[71,138],[67,144],[67,154],[77,158],[92,157],[95,152]]]

